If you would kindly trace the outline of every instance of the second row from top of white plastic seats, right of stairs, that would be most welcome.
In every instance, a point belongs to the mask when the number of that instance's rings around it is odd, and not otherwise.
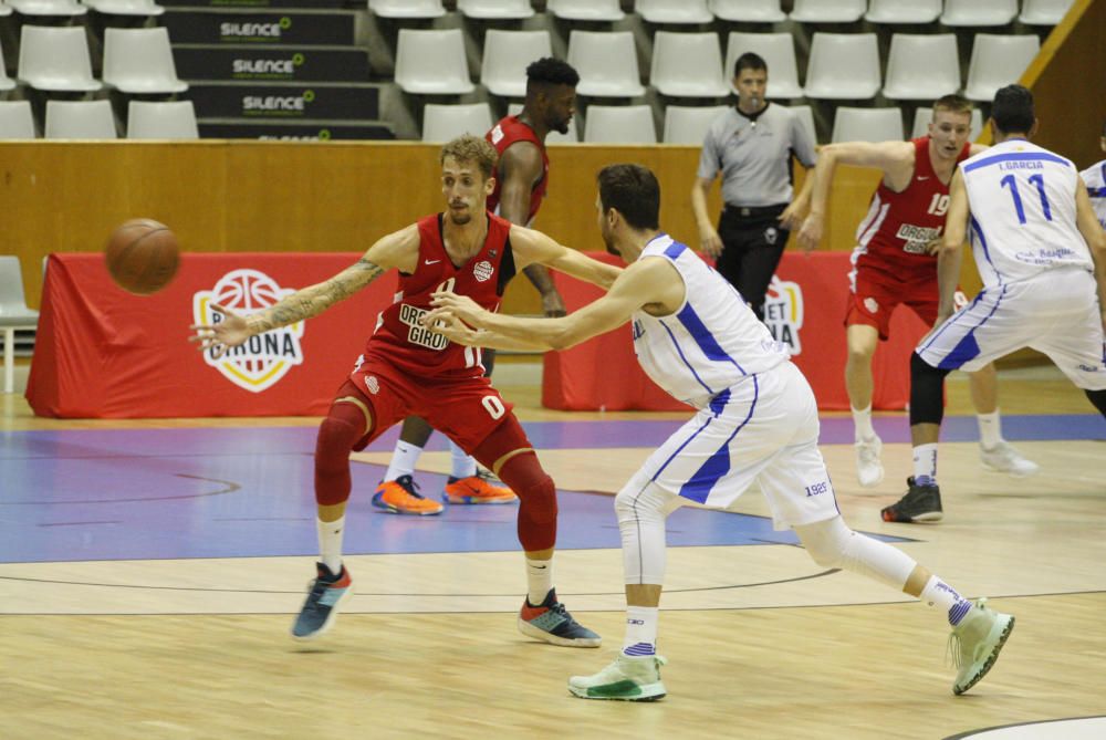
[[[1018,80],[1040,50],[1034,34],[977,33],[964,94],[989,101],[1000,86]],[[489,30],[480,81],[494,95],[524,93],[525,66],[551,53],[547,31]],[[794,37],[789,33],[731,32],[726,63],[714,33],[657,31],[649,83],[672,97],[723,97],[730,92],[738,55],[754,51],[769,65],[769,96],[778,98],[870,100],[880,91],[893,100],[933,100],[961,87],[956,34],[891,37],[887,77],[881,81],[875,33],[814,33],[806,84],[797,76]],[[634,34],[582,31],[568,37],[567,61],[580,72],[576,91],[594,97],[638,97],[641,84]],[[476,90],[469,76],[460,29],[400,29],[396,84],[419,95],[461,95]]]

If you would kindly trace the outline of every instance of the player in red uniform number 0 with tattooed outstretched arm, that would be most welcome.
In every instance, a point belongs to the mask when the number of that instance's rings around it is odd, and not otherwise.
[[[322,635],[341,601],[352,593],[342,564],[342,533],[349,498],[349,452],[364,449],[388,427],[418,414],[493,470],[521,500],[519,540],[526,555],[528,597],[519,629],[555,645],[596,647],[599,637],[557,602],[552,581],[556,540],[556,489],[538,461],[522,426],[484,377],[479,353],[445,341],[419,324],[436,290],[468,295],[489,311],[519,268],[540,262],[608,288],[620,272],[566,249],[545,234],[514,226],[486,209],[494,187],[495,150],[461,136],[441,149],[446,212],[378,240],[357,263],[334,278],[296,291],[248,316],[222,306],[226,317],[196,325],[192,341],[217,355],[254,334],[315,316],[392,268],[400,272],[398,298],[382,322],[319,428],[315,501],[319,509],[319,574],[292,634]],[[520,348],[531,348],[530,345]]]

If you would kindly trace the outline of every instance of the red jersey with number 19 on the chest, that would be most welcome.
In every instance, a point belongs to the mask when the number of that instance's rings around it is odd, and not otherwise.
[[[929,137],[914,144],[914,177],[901,192],[884,183],[872,196],[868,215],[856,229],[853,262],[901,277],[904,271],[937,274],[937,258],[926,253],[926,244],[945,230],[949,209],[949,186],[941,183],[929,159]],[[969,145],[957,156],[957,164],[968,158]]]

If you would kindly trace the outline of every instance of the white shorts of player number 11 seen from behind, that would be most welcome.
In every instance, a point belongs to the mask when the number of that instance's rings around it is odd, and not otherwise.
[[[1023,347],[1047,355],[1079,388],[1106,389],[1106,340],[1095,279],[1079,268],[988,288],[918,345],[933,367],[977,371]]]

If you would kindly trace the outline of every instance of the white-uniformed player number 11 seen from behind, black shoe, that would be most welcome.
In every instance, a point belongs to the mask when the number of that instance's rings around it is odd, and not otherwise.
[[[1029,142],[1036,131],[1029,90],[995,93],[991,127],[995,146],[961,163],[952,179],[938,256],[938,322],[910,362],[914,483],[884,509],[885,521],[942,517],[937,439],[950,371],[971,372],[1033,347],[1106,415],[1106,234],[1075,165]],[[966,234],[983,290],[953,314]]]

